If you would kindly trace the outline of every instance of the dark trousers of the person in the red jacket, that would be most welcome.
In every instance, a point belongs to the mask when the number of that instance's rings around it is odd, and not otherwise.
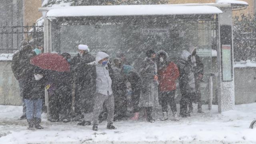
[[[161,92],[161,101],[162,101],[162,111],[167,112],[168,104],[172,110],[172,113],[177,112],[176,102],[175,102],[175,92],[176,90],[172,90],[170,92]]]

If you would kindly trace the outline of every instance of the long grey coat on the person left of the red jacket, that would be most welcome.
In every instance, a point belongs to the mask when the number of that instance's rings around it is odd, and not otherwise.
[[[150,58],[143,61],[141,74],[140,107],[158,106],[158,82],[154,80],[157,74],[156,63]]]

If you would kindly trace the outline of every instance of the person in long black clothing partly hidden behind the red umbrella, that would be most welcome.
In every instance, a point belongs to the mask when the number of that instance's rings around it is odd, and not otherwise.
[[[70,61],[70,54],[63,53],[62,56]],[[72,76],[70,72],[48,71],[47,78],[50,121],[69,122],[72,107]]]

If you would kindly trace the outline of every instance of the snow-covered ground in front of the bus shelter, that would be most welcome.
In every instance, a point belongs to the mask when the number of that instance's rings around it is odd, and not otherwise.
[[[204,112],[194,112],[179,122],[148,123],[143,119],[114,122],[116,130],[106,129],[103,122],[97,132],[92,131],[92,126],[77,126],[72,122],[51,123],[43,114],[44,129],[31,131],[27,130],[26,120],[17,120],[22,114],[21,106],[0,105],[0,144],[256,143],[256,129],[249,129],[250,122],[256,118],[256,103],[236,105],[234,110],[222,114],[218,113],[218,106],[208,111],[205,105]]]

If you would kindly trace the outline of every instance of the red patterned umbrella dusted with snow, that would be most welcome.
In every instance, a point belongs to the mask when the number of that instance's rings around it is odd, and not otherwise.
[[[43,53],[35,56],[30,63],[44,70],[54,70],[58,72],[69,72],[70,64],[59,54]]]

